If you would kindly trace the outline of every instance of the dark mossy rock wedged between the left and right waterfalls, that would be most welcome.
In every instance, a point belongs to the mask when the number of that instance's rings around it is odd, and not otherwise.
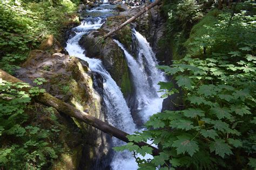
[[[84,35],[79,44],[86,49],[86,56],[99,58],[105,68],[116,81],[125,96],[132,91],[129,68],[123,50],[113,41],[112,38],[102,39],[102,32],[92,31]]]

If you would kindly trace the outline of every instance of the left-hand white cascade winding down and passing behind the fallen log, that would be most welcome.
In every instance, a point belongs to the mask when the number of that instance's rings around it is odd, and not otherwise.
[[[79,39],[90,32],[92,29],[98,29],[102,23],[102,18],[98,18],[96,22],[82,22],[79,26],[73,29],[76,35],[68,40],[66,43],[66,51],[69,52],[70,56],[76,56],[80,59],[85,60],[89,64],[91,71],[100,74],[103,77],[103,99],[107,107],[107,121],[114,127],[119,128],[127,133],[133,133],[137,131],[133,119],[131,117],[130,109],[126,104],[122,92],[120,91],[116,82],[111,78],[109,72],[107,72],[102,64],[102,61],[95,58],[88,58],[84,55],[84,49],[78,44]],[[124,145],[124,142],[114,138],[113,143],[115,146]],[[131,162],[125,169],[137,169],[135,159],[131,157],[131,153],[124,151],[114,154],[113,162],[117,162],[114,165],[121,165],[122,162]],[[120,164],[118,163],[120,162]],[[124,162],[123,162],[124,163]],[[113,169],[118,167],[112,166]],[[124,167],[124,164],[123,166]]]

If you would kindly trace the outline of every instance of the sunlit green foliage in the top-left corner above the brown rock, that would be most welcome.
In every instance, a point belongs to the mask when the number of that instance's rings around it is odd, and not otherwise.
[[[53,4],[55,4],[53,6]],[[58,4],[58,5],[57,5]],[[60,38],[76,4],[52,2],[0,2],[0,67],[14,73],[32,49],[48,35]]]

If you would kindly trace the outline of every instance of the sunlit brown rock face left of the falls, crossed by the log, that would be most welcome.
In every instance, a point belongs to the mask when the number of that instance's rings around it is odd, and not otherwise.
[[[47,82],[40,87],[47,92],[105,120],[102,98],[93,89],[91,71],[85,61],[63,53],[33,50],[23,68],[17,70],[16,77],[34,86],[35,78],[45,78]],[[111,147],[107,134],[66,115],[60,114],[59,119],[64,123],[61,137],[56,142],[64,142],[64,153],[56,160],[53,169],[93,169],[98,159],[107,157]],[[43,124],[47,122],[45,120]]]

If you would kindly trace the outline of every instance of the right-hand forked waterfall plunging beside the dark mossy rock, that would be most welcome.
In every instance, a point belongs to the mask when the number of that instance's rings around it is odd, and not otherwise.
[[[118,40],[114,40],[114,42],[124,51],[132,74],[135,88],[132,107],[135,107],[134,110],[138,111],[143,122],[145,122],[152,114],[161,111],[163,99],[160,98],[161,93],[157,93],[159,91],[158,82],[166,80],[164,73],[156,68],[157,60],[150,44],[139,32],[134,29],[132,31],[138,42],[137,60],[127,52]]]

